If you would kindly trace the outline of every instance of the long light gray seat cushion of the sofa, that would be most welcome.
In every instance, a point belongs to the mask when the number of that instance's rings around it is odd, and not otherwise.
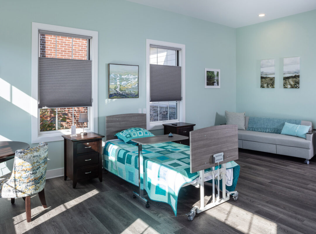
[[[275,133],[238,130],[238,139],[244,141],[255,141],[267,144],[299,147],[305,149],[312,148],[312,141],[308,141],[304,138],[297,136],[288,136]]]

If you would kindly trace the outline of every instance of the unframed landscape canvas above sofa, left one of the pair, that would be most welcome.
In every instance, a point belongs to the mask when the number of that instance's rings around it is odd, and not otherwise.
[[[260,88],[274,88],[274,58],[260,61]]]

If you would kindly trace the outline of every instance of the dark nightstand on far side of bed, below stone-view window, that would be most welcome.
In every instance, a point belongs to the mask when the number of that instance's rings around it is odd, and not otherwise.
[[[195,126],[194,123],[174,123],[177,125],[172,125],[172,123],[166,123],[162,124],[163,125],[163,134],[178,134],[178,135],[183,135],[189,137],[187,140],[182,140],[182,141],[174,141],[176,143],[184,144],[189,146],[190,145],[190,132],[193,131],[193,126]]]

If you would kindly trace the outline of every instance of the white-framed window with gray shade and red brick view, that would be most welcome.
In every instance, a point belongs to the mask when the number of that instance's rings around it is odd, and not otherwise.
[[[36,71],[32,64],[32,97],[36,97],[37,116],[32,119],[32,143],[39,141],[61,140],[61,135],[70,134],[70,127],[76,125],[77,133],[84,126],[87,131],[96,132],[93,116],[96,112],[95,86],[93,65],[96,58],[92,51],[94,37],[85,35],[87,32],[97,35],[97,32],[84,31],[75,34],[80,29],[70,29],[70,33],[40,29],[43,24],[33,23],[32,63],[37,62]],[[61,27],[65,29],[65,27]],[[52,29],[52,28],[50,28]],[[96,33],[96,34],[95,34]],[[37,50],[35,47],[37,41]],[[33,53],[37,52],[37,61]],[[35,61],[34,61],[35,60]],[[35,67],[35,66],[34,66]],[[37,83],[37,90],[35,85]],[[88,123],[78,123],[79,114],[88,113]],[[33,126],[35,125],[36,126]]]

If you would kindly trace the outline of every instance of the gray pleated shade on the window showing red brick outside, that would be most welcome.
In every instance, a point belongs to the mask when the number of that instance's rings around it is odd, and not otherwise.
[[[90,60],[39,58],[39,108],[92,106]]]

